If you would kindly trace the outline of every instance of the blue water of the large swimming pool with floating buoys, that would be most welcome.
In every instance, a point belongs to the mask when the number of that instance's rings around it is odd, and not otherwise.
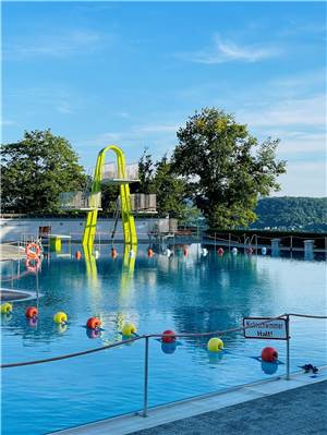
[[[64,246],[68,250],[68,246]],[[72,254],[78,246],[72,246]],[[119,330],[132,321],[140,334],[210,331],[240,325],[243,316],[276,316],[284,312],[326,313],[325,262],[225,254],[199,246],[189,255],[148,258],[138,246],[135,269],[122,254],[116,261],[109,246],[100,247],[96,264],[74,255],[45,258],[33,274],[8,281],[17,264],[2,265],[2,287],[35,290],[38,285],[39,321],[31,326],[24,311],[32,302],[16,302],[11,316],[2,316],[2,362],[27,361],[92,349],[121,340]],[[24,264],[21,263],[24,270]],[[38,282],[37,282],[38,280]],[[33,301],[35,304],[35,301]],[[57,311],[69,315],[65,330],[57,327]],[[99,316],[104,331],[90,339],[83,327]],[[291,368],[326,364],[325,321],[292,319]],[[242,333],[223,337],[227,351],[210,355],[205,339],[180,339],[173,353],[150,340],[149,406],[218,391],[271,375],[286,365],[264,367],[254,357],[265,346],[286,361],[286,342],[247,340]],[[136,411],[143,400],[144,341],[33,366],[2,371],[2,433],[35,435],[108,416]],[[277,370],[277,372],[275,372]],[[274,373],[275,372],[275,373]]]

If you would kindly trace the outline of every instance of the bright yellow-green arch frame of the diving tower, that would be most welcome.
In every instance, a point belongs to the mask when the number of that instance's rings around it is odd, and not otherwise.
[[[87,213],[86,223],[83,234],[83,246],[92,252],[94,246],[94,240],[96,235],[98,210],[101,203],[101,181],[105,166],[106,153],[111,149],[114,152],[117,157],[118,167],[118,179],[116,184],[120,188],[120,203],[121,203],[121,216],[122,216],[122,227],[124,234],[125,244],[137,244],[136,228],[134,222],[134,217],[131,209],[131,197],[130,197],[130,186],[126,173],[125,156],[123,152],[116,145],[109,145],[101,149],[98,154],[97,164],[94,173],[94,180],[92,184],[89,207],[92,208]]]

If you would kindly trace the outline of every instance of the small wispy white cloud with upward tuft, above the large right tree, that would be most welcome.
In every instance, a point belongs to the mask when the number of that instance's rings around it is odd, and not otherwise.
[[[177,56],[190,62],[217,64],[230,61],[257,62],[279,56],[280,52],[276,47],[261,47],[257,44],[237,45],[232,40],[223,40],[219,35],[215,35],[211,48]]]

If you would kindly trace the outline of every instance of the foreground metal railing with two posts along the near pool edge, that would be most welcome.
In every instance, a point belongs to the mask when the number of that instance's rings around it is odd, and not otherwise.
[[[210,337],[210,336],[223,336],[227,334],[231,333],[239,333],[239,331],[244,331],[245,329],[251,329],[251,328],[257,328],[261,325],[269,324],[272,321],[277,319],[284,319],[286,321],[286,333],[287,333],[287,361],[286,361],[286,379],[289,380],[291,373],[290,373],[290,317],[304,317],[304,318],[316,318],[316,319],[326,319],[327,316],[320,316],[320,315],[310,315],[310,314],[299,314],[299,313],[284,313],[276,317],[269,317],[261,323],[256,323],[253,326],[238,326],[234,328],[230,329],[225,329],[225,330],[216,330],[216,331],[209,331],[209,333],[181,333],[181,334],[174,334],[173,337],[175,338],[199,338],[199,337]],[[33,361],[23,361],[23,362],[14,362],[14,363],[7,363],[7,364],[1,364],[1,368],[13,368],[13,367],[20,367],[20,366],[25,366],[25,365],[35,365],[35,364],[44,364],[44,363],[49,363],[49,362],[55,362],[55,361],[60,361],[60,360],[68,360],[71,358],[76,358],[76,357],[83,357],[87,355],[90,353],[95,352],[100,352],[102,350],[108,350],[112,348],[117,348],[119,346],[123,346],[126,343],[131,343],[134,341],[138,340],[145,340],[145,353],[144,353],[144,391],[143,391],[143,410],[138,414],[142,416],[147,416],[148,415],[148,370],[149,370],[149,339],[150,338],[164,338],[164,337],[169,337],[171,338],[171,335],[165,335],[165,334],[145,334],[142,336],[136,336],[133,338],[129,339],[123,339],[121,341],[117,341],[110,345],[106,345],[99,348],[95,349],[89,349],[89,350],[84,350],[80,352],[74,352],[74,353],[69,353],[64,355],[59,355],[59,357],[52,357],[52,358],[46,358],[41,360],[33,360]]]

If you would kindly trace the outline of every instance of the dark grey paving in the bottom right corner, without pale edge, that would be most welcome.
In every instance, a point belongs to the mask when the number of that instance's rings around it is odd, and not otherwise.
[[[323,435],[327,433],[326,402],[327,380],[133,434]]]

